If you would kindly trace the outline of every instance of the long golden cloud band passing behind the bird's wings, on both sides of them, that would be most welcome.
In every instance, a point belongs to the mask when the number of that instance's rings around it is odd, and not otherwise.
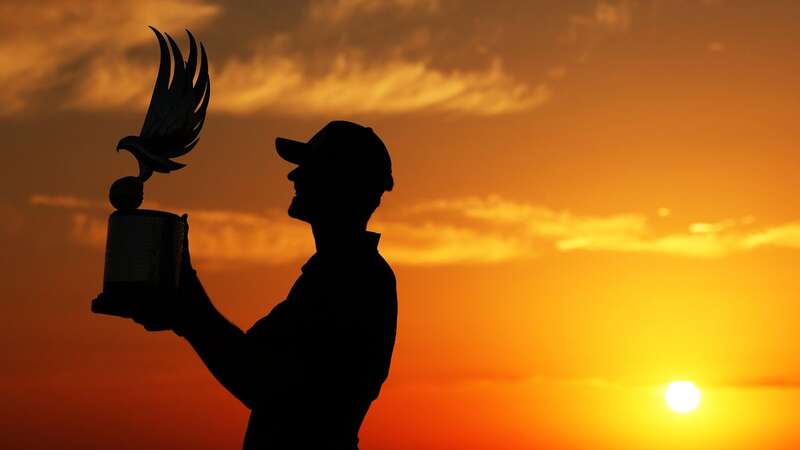
[[[367,63],[341,52],[323,74],[312,75],[299,56],[265,48],[234,57],[213,70],[217,112],[290,115],[394,114],[414,111],[496,115],[534,109],[551,96],[546,84],[529,86],[495,60],[484,70],[444,71],[427,61]],[[67,106],[107,110],[148,101],[152,68],[119,60],[90,63],[89,75]]]

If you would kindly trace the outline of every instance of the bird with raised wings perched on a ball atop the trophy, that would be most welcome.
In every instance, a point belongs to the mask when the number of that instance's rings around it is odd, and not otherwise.
[[[109,198],[118,210],[132,210],[141,205],[144,182],[153,172],[169,173],[185,166],[172,158],[189,153],[197,145],[211,98],[203,44],[198,61],[197,42],[186,30],[189,58],[184,62],[178,44],[169,34],[150,29],[158,39],[161,63],[142,131],[139,136],[126,136],[117,144],[117,151],[131,152],[139,163],[139,176],[123,177],[111,185]]]

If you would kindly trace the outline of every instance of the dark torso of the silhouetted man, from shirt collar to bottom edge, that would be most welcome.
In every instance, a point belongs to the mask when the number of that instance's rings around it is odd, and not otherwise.
[[[357,449],[389,372],[397,324],[394,274],[379,235],[318,252],[288,297],[247,331],[258,386],[245,450]]]

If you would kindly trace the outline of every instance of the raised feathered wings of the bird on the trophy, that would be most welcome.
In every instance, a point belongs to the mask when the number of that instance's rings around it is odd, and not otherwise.
[[[189,30],[186,30],[189,35],[189,59],[184,63],[183,55],[175,40],[166,33],[164,35],[167,38],[164,39],[160,31],[153,27],[150,29],[158,39],[161,63],[150,107],[147,109],[147,116],[139,136],[152,155],[175,158],[188,153],[199,140],[208,101],[211,98],[208,59],[201,43],[198,69],[197,43]],[[170,72],[172,72],[171,83]]]

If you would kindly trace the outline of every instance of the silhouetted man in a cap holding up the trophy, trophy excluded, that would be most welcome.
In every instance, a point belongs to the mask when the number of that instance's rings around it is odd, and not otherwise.
[[[308,142],[277,138],[317,252],[289,295],[247,332],[212,305],[186,242],[177,301],[142,302],[134,320],[186,338],[251,409],[245,449],[357,449],[358,430],[389,371],[397,323],[392,269],[367,221],[393,186],[389,152],[371,128],[327,124]],[[187,225],[188,234],[188,225]]]

